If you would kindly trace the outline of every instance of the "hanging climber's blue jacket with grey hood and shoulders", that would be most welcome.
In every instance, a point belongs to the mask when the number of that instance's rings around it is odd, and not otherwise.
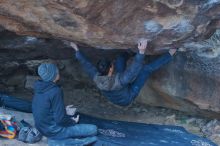
[[[76,52],[76,58],[102,94],[111,102],[121,106],[128,105],[131,102],[127,100],[133,96],[130,95],[129,84],[134,81],[143,66],[143,54],[137,53],[131,65],[123,73],[115,73],[112,76],[100,76],[96,67],[80,51]]]

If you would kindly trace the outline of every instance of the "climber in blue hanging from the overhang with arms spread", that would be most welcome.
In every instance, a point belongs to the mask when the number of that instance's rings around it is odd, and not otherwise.
[[[126,67],[128,59],[126,54],[119,55],[114,63],[107,59],[101,59],[95,67],[79,51],[75,43],[72,42],[70,45],[75,49],[76,58],[84,71],[95,82],[102,94],[112,103],[120,106],[129,105],[138,96],[149,76],[167,64],[176,52],[176,49],[170,49],[168,53],[150,64],[144,64],[147,40],[142,39],[138,43],[139,52],[128,67]]]

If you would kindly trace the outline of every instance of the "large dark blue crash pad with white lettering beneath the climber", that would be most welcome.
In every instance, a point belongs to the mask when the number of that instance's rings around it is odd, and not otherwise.
[[[97,125],[98,140],[93,146],[217,146],[179,126],[105,120],[84,114],[81,114],[80,123]],[[68,146],[70,141],[53,143]]]

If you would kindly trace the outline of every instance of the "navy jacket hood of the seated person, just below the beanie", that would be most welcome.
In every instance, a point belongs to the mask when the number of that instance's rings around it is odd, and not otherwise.
[[[48,90],[50,90],[51,88],[56,87],[57,85],[54,82],[45,82],[42,80],[38,80],[35,82],[34,84],[34,91],[36,93],[44,93]]]

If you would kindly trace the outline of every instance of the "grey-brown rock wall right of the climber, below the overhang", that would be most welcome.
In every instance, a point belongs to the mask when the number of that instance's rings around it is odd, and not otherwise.
[[[214,111],[220,118],[219,69],[219,57],[207,59],[196,53],[177,54],[147,81],[139,101],[203,115]]]

